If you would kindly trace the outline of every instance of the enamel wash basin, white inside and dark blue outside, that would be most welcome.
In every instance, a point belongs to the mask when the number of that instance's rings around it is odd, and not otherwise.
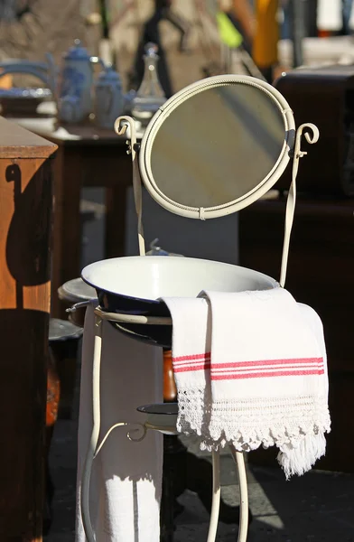
[[[96,289],[104,311],[144,316],[170,316],[161,297],[197,297],[202,290],[266,290],[278,285],[252,269],[191,257],[116,257],[90,264],[81,276]],[[171,325],[113,325],[135,339],[171,348]]]

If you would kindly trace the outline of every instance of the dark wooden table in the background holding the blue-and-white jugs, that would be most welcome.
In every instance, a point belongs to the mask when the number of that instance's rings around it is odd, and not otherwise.
[[[52,235],[51,315],[64,309],[58,287],[80,274],[82,187],[106,189],[105,257],[124,256],[126,191],[132,186],[131,158],[126,137],[95,126],[56,126],[54,117],[14,118],[20,126],[58,145],[54,164],[54,223]]]

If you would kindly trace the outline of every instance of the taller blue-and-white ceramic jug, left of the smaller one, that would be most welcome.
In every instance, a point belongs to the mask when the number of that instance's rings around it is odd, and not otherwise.
[[[68,118],[75,117],[73,122],[81,122],[92,112],[92,64],[95,61],[98,61],[97,57],[91,57],[89,52],[81,46],[79,40],[75,40],[75,45],[64,55],[58,100],[60,120],[72,122]],[[76,110],[75,113],[72,112],[68,116],[69,103],[70,107],[75,107]]]

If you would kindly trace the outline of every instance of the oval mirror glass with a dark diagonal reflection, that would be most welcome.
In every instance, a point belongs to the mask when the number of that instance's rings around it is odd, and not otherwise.
[[[177,203],[223,205],[264,181],[285,138],[282,111],[263,89],[215,86],[163,120],[151,147],[151,173],[159,190]]]

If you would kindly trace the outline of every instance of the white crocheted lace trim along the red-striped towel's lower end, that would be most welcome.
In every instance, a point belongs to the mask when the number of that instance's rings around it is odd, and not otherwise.
[[[239,452],[261,445],[276,445],[283,451],[300,446],[306,435],[331,431],[326,397],[266,397],[211,404],[210,390],[180,389],[178,403],[177,430],[199,435],[201,450],[233,444]],[[322,455],[324,450],[318,453]]]

